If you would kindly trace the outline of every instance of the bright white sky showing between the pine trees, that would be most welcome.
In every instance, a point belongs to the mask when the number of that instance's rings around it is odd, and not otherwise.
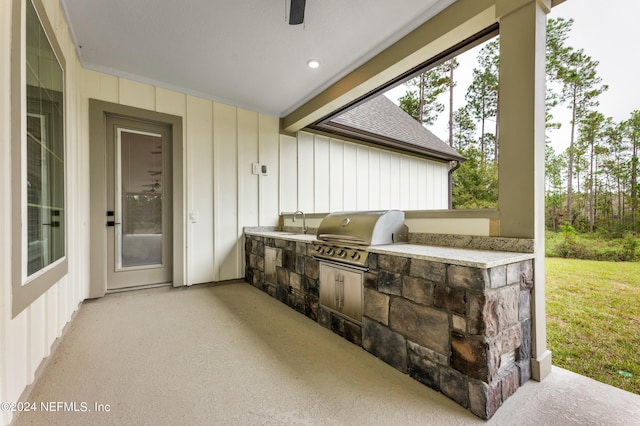
[[[640,49],[636,47],[640,43],[640,1],[566,0],[554,7],[549,17],[573,18],[567,44],[583,49],[599,62],[598,74],[609,89],[600,96],[598,110],[615,122],[626,120],[632,111],[640,110],[640,54],[637,53]],[[457,105],[464,103],[478,50],[470,50],[460,57],[457,90],[454,90]],[[468,68],[467,72],[463,71],[465,68]],[[388,92],[387,96],[397,102],[405,90],[406,87],[401,85]],[[444,101],[446,105],[446,99]],[[569,146],[571,115],[565,105],[555,108],[552,113],[555,121],[562,123],[560,129],[548,133],[551,145],[559,153]],[[447,140],[447,120],[445,111],[429,130]]]

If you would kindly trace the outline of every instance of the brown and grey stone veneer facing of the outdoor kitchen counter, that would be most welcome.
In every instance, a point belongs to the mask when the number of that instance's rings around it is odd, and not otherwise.
[[[266,283],[264,247],[277,250]],[[248,283],[489,419],[531,377],[532,260],[475,268],[369,255],[362,324],[319,306],[309,243],[245,236]]]

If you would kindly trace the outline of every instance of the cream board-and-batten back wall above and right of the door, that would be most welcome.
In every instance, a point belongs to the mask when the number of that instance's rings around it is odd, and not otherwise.
[[[243,227],[278,224],[278,118],[95,71],[82,75],[86,103],[93,98],[183,118],[185,282],[242,277]],[[269,172],[254,175],[252,163]]]

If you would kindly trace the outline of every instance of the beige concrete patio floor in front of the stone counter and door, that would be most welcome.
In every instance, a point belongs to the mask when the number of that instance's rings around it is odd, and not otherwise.
[[[25,399],[16,425],[640,424],[640,396],[555,367],[480,420],[243,282],[84,302]]]

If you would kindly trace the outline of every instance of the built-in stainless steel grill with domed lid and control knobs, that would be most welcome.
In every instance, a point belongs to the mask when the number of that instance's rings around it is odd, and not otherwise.
[[[336,212],[322,220],[317,239],[315,257],[366,268],[366,247],[407,242],[408,229],[400,210]]]

